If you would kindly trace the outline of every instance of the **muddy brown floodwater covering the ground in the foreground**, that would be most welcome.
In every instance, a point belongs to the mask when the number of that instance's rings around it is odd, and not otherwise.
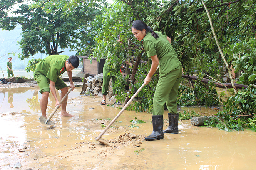
[[[179,121],[179,134],[145,141],[152,132],[151,114],[124,111],[102,136],[109,146],[94,138],[120,111],[100,105],[101,97],[80,96],[81,87],[70,92],[67,111],[75,117],[52,117],[55,127],[40,124],[38,87],[0,92],[0,169],[20,170],[253,170],[256,132],[225,132]],[[8,95],[9,94],[9,95]],[[13,95],[11,95],[13,94]],[[58,94],[59,95],[59,94]],[[12,106],[10,99],[12,96]],[[47,116],[54,109],[50,96]],[[200,112],[198,107],[182,110]],[[202,112],[215,114],[211,108]],[[131,120],[146,123],[133,124]],[[165,127],[167,111],[164,112]],[[136,127],[138,126],[138,127]]]

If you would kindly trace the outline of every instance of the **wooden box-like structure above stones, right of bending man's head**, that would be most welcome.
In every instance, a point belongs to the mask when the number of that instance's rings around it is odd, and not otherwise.
[[[100,61],[97,61],[97,59],[95,58],[88,59],[89,57],[85,57],[85,56],[77,56],[77,57],[83,58],[82,73],[88,74],[90,76],[96,76],[97,74],[103,73],[105,58],[102,58],[100,59]]]

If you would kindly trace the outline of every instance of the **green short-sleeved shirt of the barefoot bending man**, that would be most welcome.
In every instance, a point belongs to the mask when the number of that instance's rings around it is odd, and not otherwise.
[[[51,81],[56,82],[57,78],[67,71],[65,63],[68,58],[69,56],[66,55],[48,56],[37,63],[37,70]]]

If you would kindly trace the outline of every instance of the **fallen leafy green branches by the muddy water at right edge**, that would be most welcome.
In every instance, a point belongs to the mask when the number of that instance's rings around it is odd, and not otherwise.
[[[250,85],[239,91],[235,96],[224,102],[224,109],[212,117],[206,125],[217,127],[220,130],[244,130],[249,128],[256,131],[256,89]]]

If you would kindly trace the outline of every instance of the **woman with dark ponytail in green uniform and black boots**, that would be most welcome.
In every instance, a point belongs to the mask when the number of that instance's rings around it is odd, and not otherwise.
[[[171,45],[171,38],[153,31],[143,21],[132,23],[132,33],[142,46],[147,56],[152,59],[151,68],[144,83],[148,84],[159,66],[159,80],[153,99],[152,124],[153,132],[145,140],[163,139],[164,133],[178,133],[179,114],[176,98],[181,80],[182,66],[176,52]],[[164,104],[168,108],[169,126],[163,131]]]

